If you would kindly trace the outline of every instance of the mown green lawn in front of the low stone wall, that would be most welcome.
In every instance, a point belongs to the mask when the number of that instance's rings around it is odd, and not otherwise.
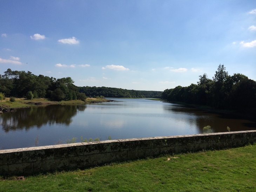
[[[256,144],[15,178],[0,191],[256,191]]]

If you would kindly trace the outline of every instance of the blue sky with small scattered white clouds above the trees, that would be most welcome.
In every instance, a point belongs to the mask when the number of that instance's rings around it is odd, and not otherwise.
[[[255,0],[0,0],[0,74],[163,91],[229,75],[256,80]]]

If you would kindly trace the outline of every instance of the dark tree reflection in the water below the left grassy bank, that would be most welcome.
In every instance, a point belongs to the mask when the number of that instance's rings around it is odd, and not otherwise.
[[[5,132],[10,130],[30,129],[33,126],[65,124],[72,122],[77,111],[84,111],[86,105],[47,105],[46,107],[32,107],[18,110],[14,113],[6,112],[0,116],[0,123]]]

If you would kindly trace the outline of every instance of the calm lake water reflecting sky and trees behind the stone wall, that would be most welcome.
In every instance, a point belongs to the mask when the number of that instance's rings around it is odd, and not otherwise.
[[[182,105],[147,99],[122,99],[88,105],[49,105],[0,115],[0,149],[66,143],[73,137],[112,139],[252,130],[255,122]]]

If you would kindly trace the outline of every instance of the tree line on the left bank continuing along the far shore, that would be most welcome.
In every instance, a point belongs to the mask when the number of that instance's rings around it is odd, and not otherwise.
[[[56,79],[30,71],[7,69],[0,75],[0,100],[4,97],[48,98],[53,101],[96,97],[161,97],[162,91],[135,91],[107,87],[77,87],[70,77]]]

